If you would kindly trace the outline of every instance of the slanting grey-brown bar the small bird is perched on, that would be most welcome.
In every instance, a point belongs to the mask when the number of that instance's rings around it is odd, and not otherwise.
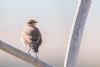
[[[36,67],[54,67],[53,65],[48,64],[40,59],[36,59],[35,57],[33,57],[15,47],[12,47],[12,46],[4,43],[1,40],[0,40],[0,49],[2,49],[3,51],[5,51],[13,56],[16,56],[19,59],[22,59]]]

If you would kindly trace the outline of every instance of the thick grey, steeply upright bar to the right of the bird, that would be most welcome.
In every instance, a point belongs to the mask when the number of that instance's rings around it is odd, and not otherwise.
[[[77,10],[74,20],[75,24],[71,30],[64,67],[76,67],[82,34],[91,4],[91,0],[79,1],[79,10]]]

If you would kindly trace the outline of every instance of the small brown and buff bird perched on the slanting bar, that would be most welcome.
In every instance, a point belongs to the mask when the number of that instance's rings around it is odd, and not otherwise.
[[[34,19],[30,19],[24,26],[21,33],[21,41],[22,43],[28,47],[28,54],[32,50],[33,53],[39,53],[39,47],[42,43],[42,35],[36,24],[38,22]]]

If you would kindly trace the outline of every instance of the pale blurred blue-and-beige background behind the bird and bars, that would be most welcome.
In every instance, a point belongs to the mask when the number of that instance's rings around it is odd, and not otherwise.
[[[100,0],[93,0],[85,25],[77,67],[100,67]],[[39,21],[43,36],[39,58],[63,67],[78,0],[0,0],[0,40],[27,52],[20,41],[29,19]],[[0,50],[0,67],[33,67]]]

